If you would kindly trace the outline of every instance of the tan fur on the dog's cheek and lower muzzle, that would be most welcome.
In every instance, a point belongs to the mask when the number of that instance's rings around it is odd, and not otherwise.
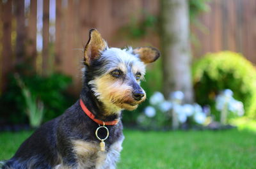
[[[136,101],[132,97],[132,87],[122,80],[117,80],[111,75],[104,75],[89,82],[95,96],[105,105],[106,115],[119,113],[122,109],[134,110],[138,104],[145,100]]]

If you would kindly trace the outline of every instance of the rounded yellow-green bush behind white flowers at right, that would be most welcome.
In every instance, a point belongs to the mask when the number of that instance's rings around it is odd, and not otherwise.
[[[205,55],[193,64],[193,83],[196,102],[210,105],[217,121],[215,98],[223,89],[231,89],[244,103],[245,115],[256,118],[256,69],[243,55],[228,51]]]

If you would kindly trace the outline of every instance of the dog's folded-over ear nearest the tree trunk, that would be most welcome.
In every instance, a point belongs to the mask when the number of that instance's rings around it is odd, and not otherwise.
[[[133,52],[134,54],[138,54],[140,60],[143,61],[145,64],[156,61],[160,56],[160,52],[153,47],[134,48]]]

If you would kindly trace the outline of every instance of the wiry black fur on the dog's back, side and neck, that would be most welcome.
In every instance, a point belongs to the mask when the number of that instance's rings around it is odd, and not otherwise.
[[[95,61],[95,67],[100,67],[99,61]],[[81,92],[81,99],[83,99],[86,107],[95,115],[97,119],[102,121],[113,121],[118,118],[116,115],[104,116],[104,109],[102,103],[93,96],[93,92],[88,85],[88,80],[92,80],[95,73],[93,68],[87,68],[85,71],[84,86]],[[84,114],[79,100],[68,108],[66,112],[46,122],[40,128],[36,129],[35,133],[31,135],[22,145],[12,159],[6,161],[3,169],[15,168],[25,169],[50,169],[61,163],[65,165],[76,166],[76,158],[71,144],[71,140],[84,140],[87,142],[99,142],[95,137],[95,130],[99,124],[92,121],[86,114]],[[115,143],[122,133],[122,122],[119,121],[115,126],[106,126],[109,129],[109,138],[106,142],[106,151],[111,144]],[[104,138],[106,133],[99,131],[100,138]],[[32,160],[32,162],[31,162]],[[76,168],[76,167],[75,167]]]

